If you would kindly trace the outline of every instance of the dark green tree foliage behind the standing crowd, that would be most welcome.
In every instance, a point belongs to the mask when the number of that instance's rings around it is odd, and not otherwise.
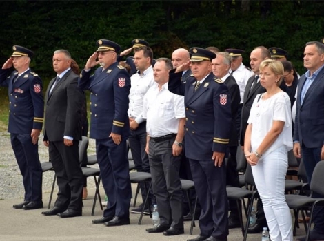
[[[0,64],[12,45],[35,52],[31,67],[45,87],[54,76],[52,54],[67,49],[80,67],[98,39],[122,49],[132,39],[150,43],[154,57],[170,57],[176,48],[216,46],[245,50],[249,65],[254,47],[279,47],[303,74],[307,41],[323,36],[324,1],[0,1]],[[1,90],[1,100],[6,91]],[[3,104],[0,104],[0,118]]]

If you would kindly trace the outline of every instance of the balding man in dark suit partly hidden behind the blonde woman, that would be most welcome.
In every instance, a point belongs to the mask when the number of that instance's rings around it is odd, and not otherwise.
[[[255,75],[249,78],[249,80],[247,81],[244,92],[240,136],[240,144],[242,148],[244,147],[244,136],[247,127],[247,119],[250,116],[254,98],[257,94],[265,92],[265,88],[261,86],[261,83],[259,81],[259,65],[265,59],[271,59],[271,54],[270,51],[263,46],[254,48],[254,50],[250,54],[250,65]],[[265,214],[263,211],[261,199],[258,200],[257,208],[258,212],[256,213],[256,224],[254,225],[254,227],[249,227],[249,229],[247,230],[248,233],[259,233],[263,230],[263,227],[267,227],[267,220],[265,220]]]

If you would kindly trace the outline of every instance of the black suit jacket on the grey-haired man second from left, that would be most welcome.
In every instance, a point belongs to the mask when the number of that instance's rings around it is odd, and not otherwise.
[[[55,78],[50,81],[46,92],[44,140],[63,141],[63,136],[82,140],[83,93],[77,87],[77,74],[69,70],[57,83],[51,94]]]

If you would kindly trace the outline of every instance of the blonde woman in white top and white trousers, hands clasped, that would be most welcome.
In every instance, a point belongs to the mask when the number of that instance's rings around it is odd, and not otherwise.
[[[292,216],[285,202],[287,152],[292,149],[290,98],[279,85],[280,61],[260,64],[260,82],[267,90],[254,99],[245,134],[244,153],[252,166],[272,241],[292,240]]]

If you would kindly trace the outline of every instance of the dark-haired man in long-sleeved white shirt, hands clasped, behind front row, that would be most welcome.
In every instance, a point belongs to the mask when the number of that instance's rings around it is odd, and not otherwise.
[[[150,47],[140,46],[134,48],[134,65],[137,72],[130,78],[130,105],[128,109],[128,117],[130,119],[130,151],[137,171],[150,172],[150,163],[148,154],[145,153],[146,145],[146,121],[142,118],[143,98],[148,89],[154,85],[152,59],[153,52]],[[145,188],[147,185],[147,188]],[[145,200],[148,183],[141,183],[142,200]],[[151,199],[151,196],[150,196]],[[148,202],[151,203],[151,202]],[[148,207],[145,207],[146,209]],[[143,204],[132,209],[132,213],[141,213]],[[146,210],[148,211],[148,210]],[[145,211],[145,212],[146,212]]]

